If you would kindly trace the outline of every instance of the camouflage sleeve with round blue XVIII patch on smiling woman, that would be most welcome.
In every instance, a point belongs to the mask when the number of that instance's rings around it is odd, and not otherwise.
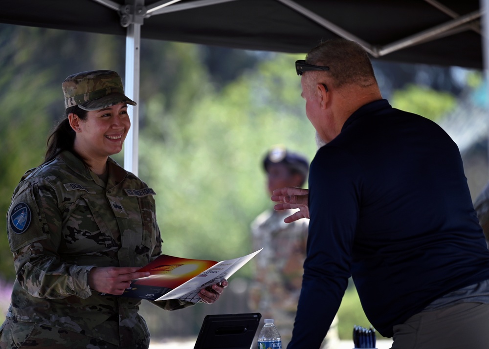
[[[14,192],[7,213],[7,232],[17,280],[32,296],[88,298],[88,274],[93,266],[61,261],[62,213],[59,198],[43,179],[26,180]]]

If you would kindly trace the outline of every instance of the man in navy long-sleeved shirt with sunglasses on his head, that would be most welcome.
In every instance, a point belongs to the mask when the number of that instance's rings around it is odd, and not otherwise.
[[[322,42],[295,68],[325,145],[309,189],[271,198],[299,208],[285,221],[310,218],[288,349],[320,347],[350,276],[392,349],[487,349],[489,251],[455,142],[382,99],[360,44]]]

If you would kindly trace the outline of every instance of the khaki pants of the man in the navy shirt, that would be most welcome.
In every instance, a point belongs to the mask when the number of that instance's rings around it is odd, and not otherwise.
[[[391,349],[488,349],[489,304],[461,303],[394,326]]]

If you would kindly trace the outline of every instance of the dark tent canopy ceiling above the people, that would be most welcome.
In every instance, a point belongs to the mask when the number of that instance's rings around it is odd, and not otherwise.
[[[0,22],[305,53],[338,36],[395,62],[483,67],[479,0],[15,0]]]

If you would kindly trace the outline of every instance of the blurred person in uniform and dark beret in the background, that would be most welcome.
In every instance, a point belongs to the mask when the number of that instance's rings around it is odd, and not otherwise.
[[[284,186],[302,187],[307,180],[309,161],[299,153],[276,146],[264,157],[263,169],[267,174],[268,193],[272,195],[275,189]],[[284,222],[294,211],[270,208],[251,223],[253,247],[264,249],[255,257],[256,275],[250,287],[249,306],[262,314],[262,322],[274,319],[283,348],[292,337],[309,228],[305,219]],[[336,325],[337,319],[328,332],[324,348],[334,348],[338,340]]]

